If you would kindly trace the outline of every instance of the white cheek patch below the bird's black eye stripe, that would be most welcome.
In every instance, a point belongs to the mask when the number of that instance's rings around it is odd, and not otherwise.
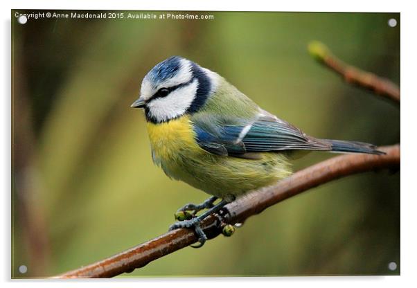
[[[195,79],[187,86],[172,91],[168,96],[155,98],[148,103],[150,116],[158,122],[176,118],[184,114],[195,98],[198,80]]]

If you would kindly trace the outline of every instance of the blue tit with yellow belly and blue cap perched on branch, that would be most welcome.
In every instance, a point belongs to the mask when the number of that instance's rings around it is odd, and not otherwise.
[[[145,111],[154,164],[171,179],[211,195],[202,204],[179,208],[188,214],[169,228],[194,228],[195,248],[207,240],[202,219],[236,197],[289,177],[292,159],[301,152],[384,154],[369,143],[308,136],[218,73],[180,56],[145,75],[131,107]],[[197,216],[201,210],[206,211]]]

